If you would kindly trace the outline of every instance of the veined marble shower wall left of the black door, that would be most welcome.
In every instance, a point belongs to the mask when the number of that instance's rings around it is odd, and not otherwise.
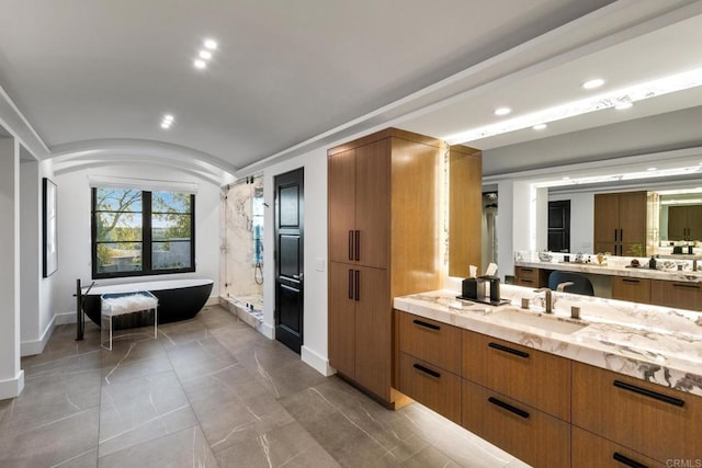
[[[262,240],[257,242],[257,238],[263,236],[262,202],[261,176],[233,185],[223,201],[226,227],[222,241],[225,256],[223,277],[226,279],[222,290],[228,297],[253,304],[257,308],[261,308],[263,303],[263,243]]]

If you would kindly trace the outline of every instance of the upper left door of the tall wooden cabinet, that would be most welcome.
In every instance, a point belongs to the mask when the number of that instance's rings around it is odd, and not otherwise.
[[[355,229],[355,150],[327,160],[329,261],[353,263]]]

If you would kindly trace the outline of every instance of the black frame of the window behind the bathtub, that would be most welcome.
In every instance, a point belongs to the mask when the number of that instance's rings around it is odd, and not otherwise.
[[[106,187],[106,186],[105,186]],[[193,273],[195,272],[195,194],[190,194],[190,266],[184,269],[168,269],[168,270],[154,270],[152,269],[152,248],[154,239],[151,231],[152,220],[152,206],[151,206],[151,193],[152,192],[170,192],[179,193],[178,191],[167,190],[140,190],[141,192],[141,270],[129,272],[98,272],[98,189],[90,189],[90,250],[91,250],[91,270],[92,279],[106,279],[106,278],[121,278],[131,276],[155,276],[155,275],[170,275],[180,273]],[[112,187],[110,187],[112,189]],[[117,189],[117,187],[114,187]],[[180,192],[183,193],[183,192]],[[159,213],[160,214],[160,213]],[[162,242],[162,241],[157,241]],[[172,242],[172,241],[171,241]],[[176,241],[179,242],[179,241]]]

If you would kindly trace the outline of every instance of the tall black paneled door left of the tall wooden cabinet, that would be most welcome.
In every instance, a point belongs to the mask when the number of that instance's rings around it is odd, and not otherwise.
[[[303,344],[304,170],[275,185],[275,339],[299,354]]]

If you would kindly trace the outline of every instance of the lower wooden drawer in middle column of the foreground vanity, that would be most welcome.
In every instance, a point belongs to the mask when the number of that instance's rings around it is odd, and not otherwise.
[[[570,424],[466,379],[463,426],[534,467],[570,465]]]

